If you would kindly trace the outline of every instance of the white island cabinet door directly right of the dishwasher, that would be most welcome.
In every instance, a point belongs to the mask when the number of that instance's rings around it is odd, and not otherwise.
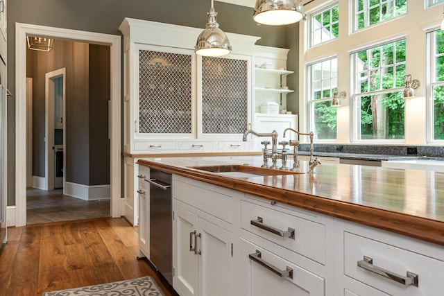
[[[177,206],[173,216],[173,287],[181,296],[198,295],[198,217]]]

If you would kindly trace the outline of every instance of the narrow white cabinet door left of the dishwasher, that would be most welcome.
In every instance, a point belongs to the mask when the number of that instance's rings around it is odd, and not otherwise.
[[[140,188],[137,190],[139,198],[139,250],[149,258],[149,242],[148,242],[148,217],[149,217],[149,200],[148,191]]]

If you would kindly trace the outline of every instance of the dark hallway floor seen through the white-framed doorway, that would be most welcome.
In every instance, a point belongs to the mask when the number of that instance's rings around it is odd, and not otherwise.
[[[26,224],[110,217],[110,200],[81,200],[62,189],[26,190]]]

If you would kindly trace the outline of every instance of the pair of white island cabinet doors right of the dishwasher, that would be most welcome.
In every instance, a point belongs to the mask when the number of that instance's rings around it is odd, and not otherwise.
[[[173,287],[181,296],[233,295],[232,233],[175,204]]]

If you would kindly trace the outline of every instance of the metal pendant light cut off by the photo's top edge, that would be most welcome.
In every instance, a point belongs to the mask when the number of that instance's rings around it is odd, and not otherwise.
[[[257,0],[253,19],[270,26],[294,24],[307,15],[302,12],[302,0]]]

